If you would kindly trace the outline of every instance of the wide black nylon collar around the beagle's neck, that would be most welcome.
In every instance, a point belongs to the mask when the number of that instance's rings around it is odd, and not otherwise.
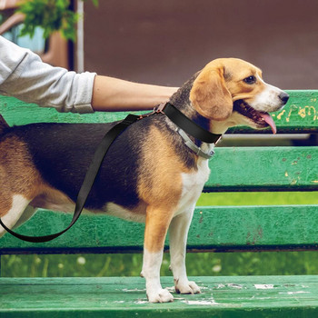
[[[202,128],[199,124],[195,124],[173,104],[160,104],[154,108],[154,112],[165,114],[174,124],[184,130],[185,133],[191,134],[194,138],[201,140],[204,143],[216,144],[222,137],[222,134],[212,134]]]

